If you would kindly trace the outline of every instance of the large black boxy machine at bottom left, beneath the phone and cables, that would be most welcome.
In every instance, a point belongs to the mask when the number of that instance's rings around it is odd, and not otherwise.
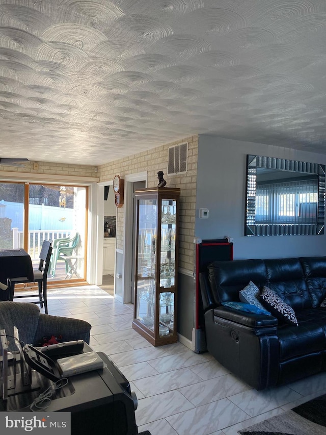
[[[27,354],[32,357],[33,347],[31,348]],[[84,343],[84,352],[90,351],[92,348]],[[45,358],[45,354],[39,353],[41,355],[37,353],[38,356]],[[138,435],[134,415],[137,398],[131,392],[128,380],[113,361],[102,352],[98,352],[98,355],[106,367],[69,377],[66,385],[53,390],[46,411],[70,412],[71,435]],[[47,363],[51,368],[51,363]],[[40,372],[33,374],[38,383],[37,390],[13,396],[8,401],[6,411],[30,411],[33,400],[51,386],[51,381],[45,375]],[[4,405],[1,409],[0,404],[1,410],[4,410]]]

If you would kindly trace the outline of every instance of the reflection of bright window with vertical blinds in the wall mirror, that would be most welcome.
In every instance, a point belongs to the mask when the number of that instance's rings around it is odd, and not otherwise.
[[[256,223],[316,223],[317,193],[316,179],[257,183]]]

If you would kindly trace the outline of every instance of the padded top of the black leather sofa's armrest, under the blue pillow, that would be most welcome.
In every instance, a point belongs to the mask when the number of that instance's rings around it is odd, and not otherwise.
[[[215,308],[214,317],[215,316],[252,328],[270,328],[271,326],[273,327],[278,325],[278,320],[274,316],[233,310],[228,306],[218,306],[218,308]]]

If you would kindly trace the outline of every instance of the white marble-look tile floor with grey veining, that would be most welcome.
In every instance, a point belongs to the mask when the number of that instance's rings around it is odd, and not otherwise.
[[[139,431],[152,435],[236,435],[326,394],[326,373],[258,392],[209,353],[196,354],[181,343],[155,348],[132,329],[132,305],[97,286],[49,290],[48,310],[92,324],[91,346],[110,356],[130,381]]]

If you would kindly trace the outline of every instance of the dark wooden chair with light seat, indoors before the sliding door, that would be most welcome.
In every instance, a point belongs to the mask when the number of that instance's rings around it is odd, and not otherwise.
[[[42,249],[40,252],[40,263],[38,269],[34,269],[34,280],[29,280],[26,276],[20,276],[18,278],[10,278],[8,279],[7,285],[9,288],[9,300],[13,301],[18,298],[25,297],[37,297],[38,301],[33,301],[33,303],[39,303],[41,308],[44,309],[45,314],[47,312],[47,298],[46,298],[46,286],[47,286],[47,274],[50,264],[50,258],[52,253],[51,241],[44,240],[42,243]],[[28,295],[17,295],[15,296],[15,284],[24,284],[24,283],[38,283],[38,294],[28,294]]]

